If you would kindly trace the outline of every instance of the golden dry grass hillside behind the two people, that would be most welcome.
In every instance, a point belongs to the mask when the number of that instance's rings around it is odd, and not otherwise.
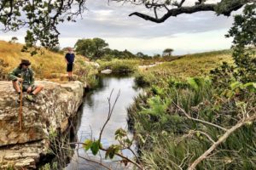
[[[20,52],[22,44],[0,41],[0,79],[6,79],[9,71],[20,64],[20,59],[29,59],[37,78],[50,78],[52,73],[66,73],[66,62],[63,54],[56,54],[43,49],[34,56]],[[82,56],[76,56],[79,61],[85,61]],[[79,62],[80,63],[80,62]],[[79,65],[78,65],[79,66]]]

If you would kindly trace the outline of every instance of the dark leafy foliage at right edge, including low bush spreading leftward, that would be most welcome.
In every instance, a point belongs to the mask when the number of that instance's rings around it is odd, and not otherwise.
[[[247,5],[243,14],[235,16],[235,22],[226,37],[234,37],[233,54],[235,66],[224,63],[212,71],[213,79],[218,85],[227,83],[256,82],[256,3]]]

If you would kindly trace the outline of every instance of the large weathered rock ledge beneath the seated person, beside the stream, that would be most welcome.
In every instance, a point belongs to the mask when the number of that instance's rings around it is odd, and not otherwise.
[[[0,81],[0,169],[35,168],[40,155],[49,148],[50,131],[65,131],[68,118],[76,115],[82,104],[82,82],[36,82],[44,85],[37,102],[23,99],[23,127],[20,130],[18,94],[11,82]]]

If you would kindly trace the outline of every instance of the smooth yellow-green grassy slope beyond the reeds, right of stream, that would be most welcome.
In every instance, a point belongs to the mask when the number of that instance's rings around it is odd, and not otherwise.
[[[151,67],[148,71],[185,79],[187,77],[207,76],[209,71],[221,65],[224,61],[233,63],[230,50],[184,55],[172,62]]]

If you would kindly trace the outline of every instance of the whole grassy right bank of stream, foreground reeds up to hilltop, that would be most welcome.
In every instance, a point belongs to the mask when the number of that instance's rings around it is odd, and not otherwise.
[[[219,82],[204,77],[223,61],[232,64],[230,56],[187,55],[137,75],[148,88],[128,116],[145,169],[189,169],[195,162],[197,170],[256,169],[255,120],[226,133],[244,114],[255,116],[256,88],[249,88],[254,83],[234,82],[230,74],[215,75]]]

